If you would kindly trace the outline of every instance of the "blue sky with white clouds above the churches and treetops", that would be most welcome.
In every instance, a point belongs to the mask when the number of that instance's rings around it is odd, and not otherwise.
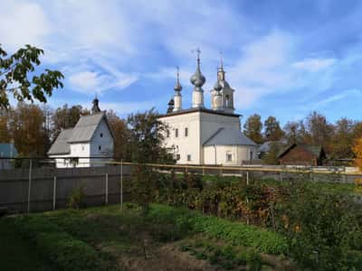
[[[42,47],[43,67],[63,72],[52,107],[90,107],[98,93],[121,117],[165,112],[176,66],[190,107],[199,47],[206,107],[223,51],[243,120],[258,113],[285,124],[312,110],[361,120],[361,18],[362,2],[348,0],[0,0],[0,42]]]

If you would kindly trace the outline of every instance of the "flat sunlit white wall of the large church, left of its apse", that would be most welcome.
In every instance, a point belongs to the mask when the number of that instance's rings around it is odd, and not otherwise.
[[[200,112],[160,117],[159,120],[169,126],[169,137],[165,136],[165,144],[168,148],[173,146],[176,148],[176,154],[180,155],[177,164],[201,164]],[[187,161],[187,155],[190,155],[190,161]]]

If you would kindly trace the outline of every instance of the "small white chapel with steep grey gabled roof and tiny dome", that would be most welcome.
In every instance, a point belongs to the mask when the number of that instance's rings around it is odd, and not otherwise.
[[[106,113],[94,98],[91,114],[81,116],[77,124],[62,129],[48,152],[58,168],[102,166],[113,155],[114,135]]]

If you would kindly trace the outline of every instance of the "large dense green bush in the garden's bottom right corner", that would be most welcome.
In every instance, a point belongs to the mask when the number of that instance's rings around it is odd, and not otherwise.
[[[314,270],[344,270],[347,253],[357,246],[356,204],[348,197],[295,187],[280,211],[280,229],[289,237],[291,257]]]

